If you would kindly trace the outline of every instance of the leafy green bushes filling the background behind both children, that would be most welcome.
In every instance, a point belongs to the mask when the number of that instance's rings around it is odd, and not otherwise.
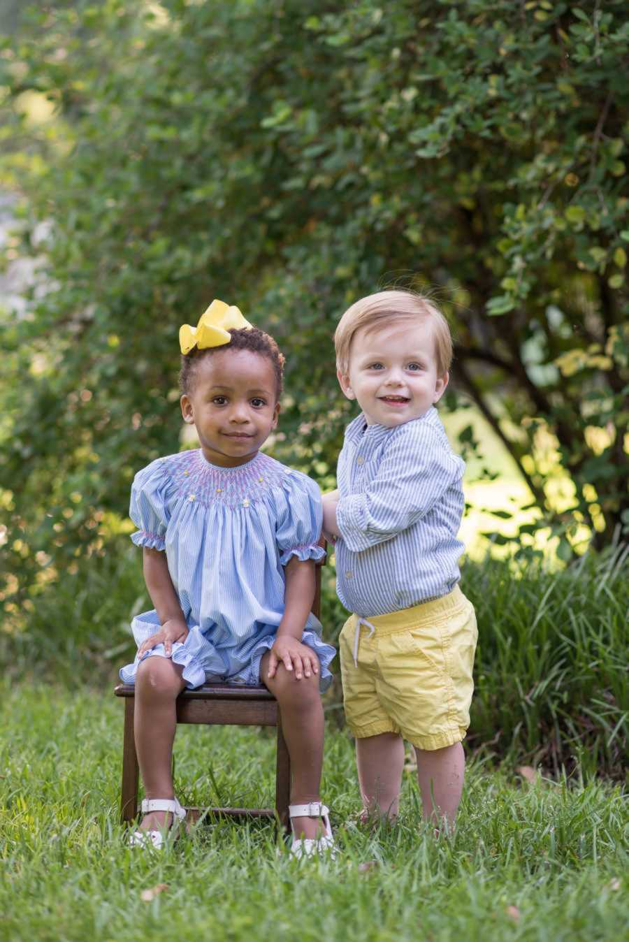
[[[177,329],[213,297],[285,349],[276,454],[327,480],[336,320],[382,284],[435,292],[458,338],[446,406],[489,419],[562,558],[579,526],[609,543],[629,510],[628,42],[621,0],[23,14],[1,167],[43,264],[2,323],[5,605],[34,602],[42,565],[103,552],[134,471],[176,450]],[[20,118],[32,92],[55,121]]]

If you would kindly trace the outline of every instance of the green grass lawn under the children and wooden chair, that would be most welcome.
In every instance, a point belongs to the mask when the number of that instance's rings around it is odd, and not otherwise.
[[[330,730],[323,794],[337,862],[288,859],[268,824],[199,828],[169,853],[132,852],[118,823],[121,703],[41,684],[2,695],[0,937],[10,940],[573,940],[625,937],[627,815],[620,786],[471,764],[459,826],[419,823],[412,771],[395,828],[355,824],[350,739]],[[272,735],[184,727],[186,802],[270,803]],[[141,892],[168,889],[153,901]],[[512,908],[509,908],[512,907]]]

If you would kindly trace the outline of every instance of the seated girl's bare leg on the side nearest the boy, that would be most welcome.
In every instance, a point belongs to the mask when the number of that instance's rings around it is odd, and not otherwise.
[[[291,804],[319,801],[321,766],[323,764],[323,706],[319,693],[319,675],[303,676],[297,680],[294,672],[283,664],[274,677],[268,677],[266,653],[260,665],[260,676],[276,698],[282,710],[282,731],[286,740],[291,765]],[[293,830],[298,837],[320,835],[315,818],[293,818]]]

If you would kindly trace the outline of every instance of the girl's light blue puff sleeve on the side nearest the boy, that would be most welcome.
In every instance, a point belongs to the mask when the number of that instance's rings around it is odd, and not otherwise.
[[[275,502],[275,535],[282,566],[293,556],[302,561],[323,559],[325,550],[319,546],[323,506],[318,484],[299,471],[291,471],[282,490],[276,493]]]

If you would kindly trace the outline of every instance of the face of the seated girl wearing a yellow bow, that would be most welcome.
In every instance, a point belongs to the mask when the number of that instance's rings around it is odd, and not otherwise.
[[[208,462],[250,462],[278,424],[275,371],[266,356],[225,349],[204,357],[181,398],[184,421],[194,424]]]

